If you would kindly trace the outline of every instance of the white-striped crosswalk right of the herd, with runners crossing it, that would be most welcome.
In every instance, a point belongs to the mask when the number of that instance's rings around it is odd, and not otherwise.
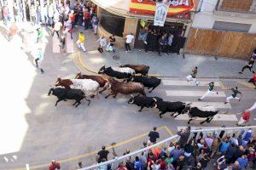
[[[219,113],[214,116],[212,121],[224,121],[224,122],[235,122],[237,121],[237,117],[234,114],[225,114],[224,111],[230,112],[232,109],[230,104],[224,104],[224,98],[226,98],[226,95],[224,94],[224,91],[220,89],[220,83],[219,82],[214,82],[215,88],[218,88],[218,94],[211,94],[206,97],[207,101],[198,101],[198,98],[203,96],[204,94],[207,93],[207,88],[210,81],[201,81],[201,84],[196,87],[195,82],[187,82],[185,80],[177,80],[177,79],[172,79],[172,78],[164,78],[162,79],[162,84],[165,86],[165,92],[167,97],[173,97],[173,98],[178,98],[180,101],[183,101],[185,103],[190,103],[192,102],[193,106],[206,106],[206,105],[211,105],[217,109],[220,109]],[[204,86],[206,85],[206,86]],[[193,88],[196,87],[196,88]],[[187,88],[186,88],[187,87]],[[172,100],[173,100],[172,98]],[[182,100],[184,98],[184,100]],[[189,98],[189,99],[186,99]],[[213,99],[213,101],[211,101]],[[210,101],[209,101],[210,100]],[[179,115],[175,118],[175,120],[179,121],[188,121],[190,118],[187,114]],[[197,118],[196,120],[202,121],[205,120],[205,118]]]

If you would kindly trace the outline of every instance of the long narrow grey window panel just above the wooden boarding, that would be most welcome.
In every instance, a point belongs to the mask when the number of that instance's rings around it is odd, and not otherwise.
[[[222,22],[215,21],[212,29],[223,30],[223,31],[241,31],[248,32],[252,25],[249,24],[239,24],[235,22]]]

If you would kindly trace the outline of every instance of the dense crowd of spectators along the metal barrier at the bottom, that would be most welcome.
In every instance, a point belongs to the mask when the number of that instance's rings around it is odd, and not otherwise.
[[[256,168],[256,137],[252,129],[242,130],[241,133],[192,133],[190,127],[177,132],[180,138],[165,146],[156,146],[142,152],[141,156],[119,163],[117,170],[241,170],[251,167]],[[236,136],[237,135],[237,136]],[[189,138],[191,137],[191,138]],[[198,137],[198,139],[196,139]],[[155,144],[160,138],[157,127],[148,133],[148,142],[143,143],[143,148]],[[130,150],[125,150],[124,156]],[[109,151],[106,146],[97,153],[96,163],[108,161]],[[114,153],[116,155],[116,153]],[[82,162],[79,166],[84,167]],[[102,165],[102,170],[110,169],[110,165]]]

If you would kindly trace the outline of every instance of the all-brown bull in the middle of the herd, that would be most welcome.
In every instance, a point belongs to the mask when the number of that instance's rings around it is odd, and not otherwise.
[[[140,82],[118,82],[112,77],[108,78],[108,81],[111,93],[105,97],[106,99],[110,95],[113,95],[113,98],[115,98],[117,94],[143,94],[146,96],[144,86]]]

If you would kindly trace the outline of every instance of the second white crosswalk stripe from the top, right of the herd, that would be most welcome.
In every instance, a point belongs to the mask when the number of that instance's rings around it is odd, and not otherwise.
[[[166,90],[166,95],[167,96],[203,96],[206,94],[206,90],[201,90],[201,91],[192,91],[192,90]],[[218,94],[211,94],[208,95],[207,97],[226,97],[224,92],[218,92]]]

